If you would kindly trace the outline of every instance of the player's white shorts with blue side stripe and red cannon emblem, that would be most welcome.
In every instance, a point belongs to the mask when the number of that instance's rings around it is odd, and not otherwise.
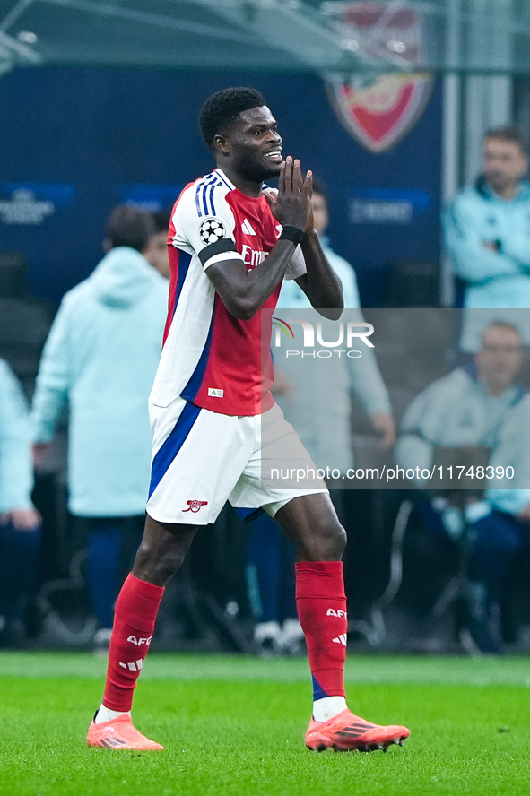
[[[293,497],[327,492],[321,479],[292,489],[264,486],[262,472],[278,461],[278,446],[282,467],[315,468],[277,403],[264,414],[238,417],[179,397],[169,406],[150,403],[149,413],[154,437],[147,514],[153,520],[207,525],[227,500],[263,507],[274,517]]]

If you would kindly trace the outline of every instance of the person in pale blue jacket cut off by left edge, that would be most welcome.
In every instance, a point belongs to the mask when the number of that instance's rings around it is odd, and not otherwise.
[[[28,407],[0,359],[0,644],[17,645],[25,601],[37,579],[40,517],[31,503]]]

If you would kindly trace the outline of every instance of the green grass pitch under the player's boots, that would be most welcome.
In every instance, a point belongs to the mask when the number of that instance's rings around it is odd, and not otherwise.
[[[352,710],[411,728],[387,754],[304,747],[305,660],[156,653],[134,715],[166,750],[90,749],[105,668],[0,653],[2,796],[530,796],[530,659],[351,654]]]

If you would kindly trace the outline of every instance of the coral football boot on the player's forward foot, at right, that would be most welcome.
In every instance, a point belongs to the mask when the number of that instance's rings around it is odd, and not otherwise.
[[[387,751],[393,743],[403,746],[405,738],[410,734],[411,731],[406,727],[382,727],[380,724],[365,722],[346,709],[326,722],[316,722],[312,718],[306,732],[306,746],[315,752],[323,752],[328,748],[337,752],[372,752],[375,749]]]

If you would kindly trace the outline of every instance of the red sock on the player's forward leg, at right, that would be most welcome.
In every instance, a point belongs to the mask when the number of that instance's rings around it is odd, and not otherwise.
[[[348,619],[343,562],[297,563],[296,606],[308,645],[313,699],[345,697]]]

